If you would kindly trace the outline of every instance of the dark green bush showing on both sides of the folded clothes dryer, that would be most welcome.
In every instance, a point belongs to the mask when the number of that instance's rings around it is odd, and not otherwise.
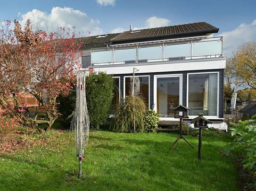
[[[76,87],[76,86],[75,86]],[[86,102],[90,118],[90,129],[98,130],[107,122],[112,106],[114,79],[111,75],[104,72],[91,74],[85,81]],[[60,95],[58,98],[58,111],[61,114],[60,122],[65,127],[70,127],[75,108],[76,88],[68,96]]]

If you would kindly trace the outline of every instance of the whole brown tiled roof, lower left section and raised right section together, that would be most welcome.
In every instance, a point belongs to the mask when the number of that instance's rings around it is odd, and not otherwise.
[[[180,24],[150,29],[124,31],[122,33],[97,35],[91,37],[76,38],[83,46],[95,44],[112,44],[124,41],[141,41],[154,39],[178,38],[181,36],[197,36],[216,33],[219,29],[206,22]],[[97,38],[104,36],[103,38]]]

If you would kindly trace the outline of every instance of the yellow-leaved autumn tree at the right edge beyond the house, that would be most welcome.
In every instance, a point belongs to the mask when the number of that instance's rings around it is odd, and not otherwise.
[[[238,47],[228,61],[225,76],[237,86],[249,86],[256,90],[256,42],[247,42]]]

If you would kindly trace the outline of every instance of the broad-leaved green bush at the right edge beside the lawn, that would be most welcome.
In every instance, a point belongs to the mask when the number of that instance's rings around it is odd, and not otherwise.
[[[239,161],[248,170],[256,171],[256,120],[253,119],[232,123],[235,128],[230,128],[234,142],[224,147],[224,154]]]

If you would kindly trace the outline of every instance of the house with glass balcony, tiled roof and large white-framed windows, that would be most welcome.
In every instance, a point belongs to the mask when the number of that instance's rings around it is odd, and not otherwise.
[[[175,121],[174,107],[189,107],[189,119],[203,113],[212,126],[223,123],[222,37],[205,23],[124,31],[82,39],[83,69],[104,71],[116,79],[116,99],[135,93],[160,120]],[[80,39],[81,40],[81,39]]]

